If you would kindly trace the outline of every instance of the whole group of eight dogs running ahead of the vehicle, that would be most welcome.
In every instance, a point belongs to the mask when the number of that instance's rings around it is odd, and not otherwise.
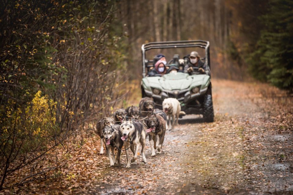
[[[145,140],[151,145],[152,156],[162,153],[162,146],[166,129],[174,129],[174,125],[178,125],[179,114],[181,112],[180,103],[175,98],[167,98],[163,101],[163,111],[154,109],[155,102],[152,98],[142,98],[139,107],[130,106],[126,109],[117,109],[113,117],[104,117],[97,122],[96,133],[101,138],[101,151],[103,154],[103,143],[106,144],[106,152],[110,160],[110,166],[120,164],[121,151],[126,152],[126,168],[130,168],[131,164],[137,164],[137,154],[141,145],[142,161],[146,163],[145,158]],[[138,120],[138,118],[142,120]],[[172,117],[172,124],[171,124]],[[168,128],[169,127],[169,128]],[[122,149],[124,146],[124,149]],[[115,159],[114,149],[117,148]],[[130,161],[129,149],[133,153]],[[111,152],[112,156],[111,156]]]

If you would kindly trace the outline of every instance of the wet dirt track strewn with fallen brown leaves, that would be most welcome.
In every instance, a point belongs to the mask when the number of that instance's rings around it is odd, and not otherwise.
[[[293,98],[268,85],[213,81],[215,122],[185,116],[147,164],[104,166],[89,194],[293,194]],[[108,161],[105,158],[105,161]],[[98,165],[97,165],[98,166]]]

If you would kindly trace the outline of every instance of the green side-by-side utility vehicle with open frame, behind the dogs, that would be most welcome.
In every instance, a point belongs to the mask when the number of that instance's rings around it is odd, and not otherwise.
[[[143,44],[142,50],[142,97],[152,97],[157,108],[162,108],[165,98],[176,98],[181,104],[181,110],[186,114],[201,114],[206,122],[214,121],[214,108],[212,101],[211,86],[211,65],[209,41],[166,41],[151,42]],[[166,48],[203,48],[205,57],[201,60],[205,63],[205,73],[183,73],[183,67],[189,63],[188,56],[179,60],[179,55],[174,54],[173,59],[167,63],[168,66],[178,66],[181,70],[178,73],[168,73],[165,75],[147,76],[158,59],[146,58],[146,51],[151,49]],[[193,50],[191,50],[193,51]]]

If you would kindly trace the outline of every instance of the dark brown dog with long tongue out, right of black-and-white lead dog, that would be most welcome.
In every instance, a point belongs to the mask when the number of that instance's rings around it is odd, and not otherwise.
[[[148,114],[147,126],[149,129],[146,129],[146,132],[148,133],[152,156],[156,155],[156,149],[158,149],[158,153],[161,154],[166,132],[166,121],[159,114]]]

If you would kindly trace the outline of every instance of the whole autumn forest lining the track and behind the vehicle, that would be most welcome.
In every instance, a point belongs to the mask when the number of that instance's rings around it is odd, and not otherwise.
[[[0,4],[0,190],[7,176],[57,145],[68,151],[70,137],[125,103],[121,86],[140,80],[143,43],[208,40],[212,76],[252,76],[292,92],[290,0]]]

